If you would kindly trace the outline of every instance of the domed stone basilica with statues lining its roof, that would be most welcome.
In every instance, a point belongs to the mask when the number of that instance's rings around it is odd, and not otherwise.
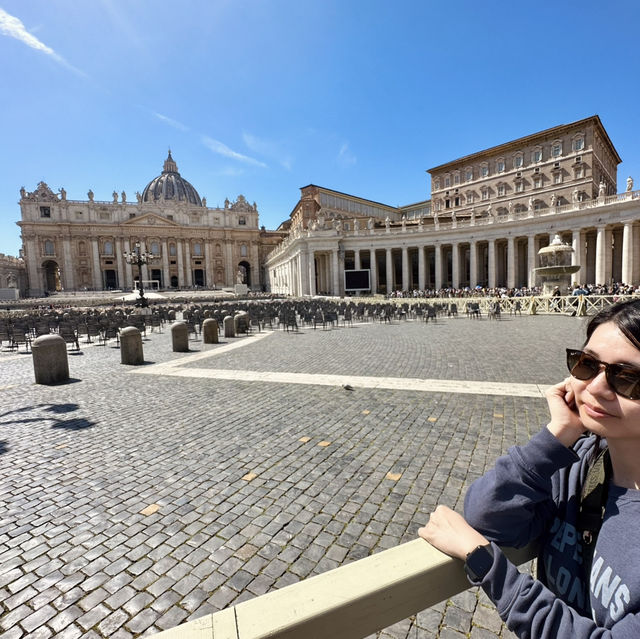
[[[113,192],[109,201],[67,198],[40,182],[20,190],[28,295],[55,291],[127,290],[140,277],[145,288],[267,288],[266,255],[286,233],[259,225],[258,208],[239,195],[224,208],[206,200],[178,172],[171,152],[162,173],[135,199]],[[148,264],[130,264],[135,251]]]

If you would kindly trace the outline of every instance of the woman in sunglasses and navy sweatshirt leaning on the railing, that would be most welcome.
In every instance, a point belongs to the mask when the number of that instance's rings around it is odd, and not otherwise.
[[[567,365],[547,392],[546,428],[472,484],[464,518],[438,506],[419,534],[465,561],[518,637],[640,637],[640,300],[593,317]],[[585,529],[598,458],[597,521]],[[496,545],[535,540],[538,579]]]

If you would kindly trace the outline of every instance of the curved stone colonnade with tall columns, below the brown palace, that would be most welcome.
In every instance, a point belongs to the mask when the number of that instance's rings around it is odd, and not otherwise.
[[[327,232],[309,232],[292,243],[284,259],[269,265],[271,290],[344,295],[344,272],[349,269],[369,270],[373,294],[446,287],[531,288],[540,285],[534,270],[538,251],[556,234],[573,248],[571,263],[581,266],[572,275],[573,284],[640,282],[640,227],[635,219],[573,230],[556,220],[544,227],[551,230],[523,233],[505,225],[504,234],[494,227],[484,237],[477,228],[473,236],[465,229],[458,237],[449,233],[439,238],[401,229],[360,236],[334,233],[332,242]]]

